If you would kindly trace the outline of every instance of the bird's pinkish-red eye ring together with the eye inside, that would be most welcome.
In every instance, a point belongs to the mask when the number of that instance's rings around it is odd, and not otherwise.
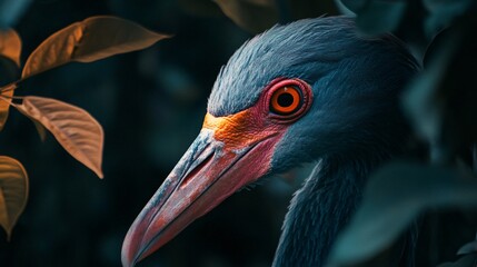
[[[271,119],[278,123],[289,123],[308,111],[312,91],[301,79],[278,78],[269,83],[264,100]]]

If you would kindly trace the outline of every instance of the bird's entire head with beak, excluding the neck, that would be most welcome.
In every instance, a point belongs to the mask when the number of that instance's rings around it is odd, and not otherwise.
[[[329,155],[394,146],[398,93],[416,63],[390,36],[351,19],[277,26],[221,69],[202,129],[130,227],[133,266],[244,186]]]

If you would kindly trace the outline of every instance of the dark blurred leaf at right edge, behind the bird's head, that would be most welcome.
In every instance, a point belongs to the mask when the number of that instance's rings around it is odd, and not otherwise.
[[[438,34],[426,52],[426,69],[408,86],[405,111],[431,145],[433,160],[446,161],[477,140],[477,19],[468,16]]]

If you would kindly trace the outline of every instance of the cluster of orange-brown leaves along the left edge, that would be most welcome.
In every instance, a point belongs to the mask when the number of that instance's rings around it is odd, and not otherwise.
[[[20,66],[21,39],[11,29],[1,32],[0,56]],[[91,17],[57,31],[28,57],[21,79],[0,88],[0,130],[10,106],[30,118],[44,140],[49,130],[74,159],[102,178],[105,134],[88,111],[57,99],[14,96],[19,85],[32,76],[72,62],[93,62],[113,55],[149,47],[167,36],[149,31],[116,17]],[[16,101],[17,102],[16,102]],[[18,101],[21,102],[18,102]],[[10,239],[28,199],[28,176],[21,162],[2,156],[0,165],[0,225]]]

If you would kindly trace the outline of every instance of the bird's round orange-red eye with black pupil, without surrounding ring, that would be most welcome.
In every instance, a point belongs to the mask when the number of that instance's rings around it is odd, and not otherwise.
[[[292,86],[281,87],[271,95],[270,110],[275,113],[291,115],[299,110],[301,105],[301,92]]]

